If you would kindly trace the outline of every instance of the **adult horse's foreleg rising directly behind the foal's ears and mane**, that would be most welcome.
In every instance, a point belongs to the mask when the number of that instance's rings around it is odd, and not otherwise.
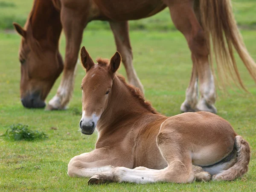
[[[143,85],[141,84],[132,63],[133,55],[129,38],[128,21],[110,22],[110,26],[115,38],[116,49],[118,52],[120,52],[122,56],[122,62],[125,65],[125,70],[129,83],[140,88],[141,91],[144,91]]]

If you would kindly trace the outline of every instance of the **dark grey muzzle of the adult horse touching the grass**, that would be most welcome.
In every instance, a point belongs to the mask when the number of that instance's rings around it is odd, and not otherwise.
[[[32,93],[21,99],[21,103],[25,108],[44,108],[45,102],[40,99],[38,93]]]

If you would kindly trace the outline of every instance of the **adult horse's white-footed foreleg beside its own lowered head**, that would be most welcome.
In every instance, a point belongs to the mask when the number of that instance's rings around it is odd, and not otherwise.
[[[65,109],[73,93],[76,63],[85,27],[84,17],[73,9],[61,8],[61,23],[66,37],[66,54],[63,76],[56,95],[49,101],[47,110]]]

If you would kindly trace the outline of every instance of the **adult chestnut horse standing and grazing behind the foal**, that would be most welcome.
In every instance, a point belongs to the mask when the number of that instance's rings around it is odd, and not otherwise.
[[[210,67],[213,52],[221,81],[226,82],[230,72],[232,79],[237,78],[244,87],[236,67],[233,47],[256,81],[256,64],[243,44],[230,0],[34,0],[25,28],[14,23],[15,29],[23,37],[19,50],[20,97],[23,105],[27,108],[45,106],[44,100],[63,70],[58,50],[63,28],[67,42],[64,72],[58,91],[47,108],[66,108],[73,92],[83,30],[92,20],[109,21],[128,81],[143,90],[132,64],[127,20],[149,17],[166,7],[192,53],[192,76],[181,111],[216,113],[214,73]],[[210,49],[210,41],[213,49]]]

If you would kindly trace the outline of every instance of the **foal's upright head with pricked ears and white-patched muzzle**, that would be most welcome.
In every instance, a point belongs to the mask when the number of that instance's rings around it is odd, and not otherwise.
[[[82,118],[80,128],[83,134],[93,134],[97,122],[105,111],[113,79],[121,63],[121,55],[116,52],[108,60],[98,59],[94,64],[92,58],[84,47],[81,49],[81,62],[86,69],[86,76],[82,80]]]

